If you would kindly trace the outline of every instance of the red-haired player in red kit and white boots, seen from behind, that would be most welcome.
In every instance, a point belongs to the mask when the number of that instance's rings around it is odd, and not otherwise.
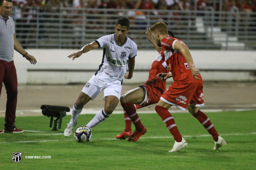
[[[162,45],[163,53],[167,65],[171,69],[170,73],[159,73],[161,80],[172,77],[174,82],[161,96],[155,110],[162,118],[164,124],[174,137],[175,143],[169,152],[177,152],[187,146],[187,141],[180,135],[174,119],[168,109],[174,105],[181,110],[188,108],[204,128],[214,139],[214,150],[218,150],[226,141],[219,136],[213,127],[208,116],[198,109],[204,105],[203,80],[196,69],[187,45],[179,39],[168,35],[167,26],[163,22],[158,22],[150,28],[150,31],[158,46]]]

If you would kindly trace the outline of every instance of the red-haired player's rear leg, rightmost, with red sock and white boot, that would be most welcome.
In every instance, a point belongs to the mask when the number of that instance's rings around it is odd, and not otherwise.
[[[220,137],[212,122],[204,112],[199,110],[195,105],[189,105],[187,108],[189,113],[191,113],[191,115],[193,115],[204,126],[208,133],[212,135],[212,138],[214,139],[214,150],[218,150],[221,146],[226,144],[226,141]]]

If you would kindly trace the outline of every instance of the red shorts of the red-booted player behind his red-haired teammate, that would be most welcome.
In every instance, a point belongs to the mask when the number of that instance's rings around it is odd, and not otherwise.
[[[143,88],[145,92],[145,98],[140,104],[136,104],[136,108],[142,108],[158,103],[161,95],[163,94],[162,89],[150,85],[140,85],[139,87]]]

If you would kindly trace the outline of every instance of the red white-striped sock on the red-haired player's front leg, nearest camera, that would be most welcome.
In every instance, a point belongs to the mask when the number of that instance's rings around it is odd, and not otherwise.
[[[156,113],[162,118],[164,121],[165,126],[169,129],[172,136],[174,137],[174,140],[176,142],[181,142],[182,137],[180,135],[180,132],[174,122],[174,119],[167,108],[156,105],[155,107]]]

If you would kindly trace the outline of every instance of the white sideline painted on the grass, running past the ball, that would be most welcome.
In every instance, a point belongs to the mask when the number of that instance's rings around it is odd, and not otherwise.
[[[252,132],[252,133],[231,133],[231,134],[221,134],[220,136],[237,136],[237,135],[255,135],[256,132]],[[2,134],[3,135],[3,134]],[[33,136],[32,134],[30,134],[31,136]],[[30,136],[29,135],[29,136]],[[37,135],[37,134],[35,134]],[[40,135],[40,134],[38,134]],[[43,135],[43,134],[41,134]],[[50,134],[49,134],[50,135]],[[53,135],[63,135],[62,133],[53,133]],[[48,135],[46,135],[48,136]],[[211,135],[184,135],[183,137],[210,137]],[[140,139],[154,139],[154,138],[173,138],[172,136],[166,136],[166,137],[140,137]],[[92,140],[118,140],[116,138],[107,138],[107,139],[92,139]],[[10,144],[10,143],[31,143],[31,142],[62,142],[62,141],[76,141],[75,139],[69,139],[69,140],[32,140],[32,141],[17,141],[17,142],[0,142],[0,144]]]

